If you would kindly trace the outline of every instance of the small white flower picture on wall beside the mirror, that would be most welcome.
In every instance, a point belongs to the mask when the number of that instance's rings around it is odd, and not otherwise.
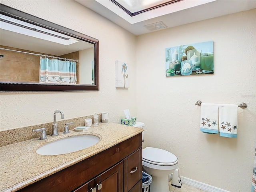
[[[116,87],[129,87],[129,67],[128,64],[121,61],[116,61]]]

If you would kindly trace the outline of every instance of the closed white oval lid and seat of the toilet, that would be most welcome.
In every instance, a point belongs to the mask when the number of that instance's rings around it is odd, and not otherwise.
[[[167,166],[178,163],[178,157],[166,150],[146,147],[142,150],[142,161]]]

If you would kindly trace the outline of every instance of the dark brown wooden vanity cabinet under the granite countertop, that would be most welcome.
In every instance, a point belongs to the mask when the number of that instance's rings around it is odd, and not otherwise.
[[[141,192],[141,140],[140,133],[18,192]]]

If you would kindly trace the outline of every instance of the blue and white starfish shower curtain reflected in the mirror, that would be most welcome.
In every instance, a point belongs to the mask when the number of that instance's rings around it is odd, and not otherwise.
[[[40,58],[40,83],[76,84],[76,62]]]

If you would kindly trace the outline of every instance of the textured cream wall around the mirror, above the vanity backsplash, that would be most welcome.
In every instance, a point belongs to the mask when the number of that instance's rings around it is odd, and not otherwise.
[[[75,1],[1,3],[100,40],[99,92],[1,93],[1,130],[52,122],[54,110],[65,119],[109,112],[116,123],[126,108],[136,115],[136,36]],[[129,64],[130,88],[116,89],[116,60]]]

